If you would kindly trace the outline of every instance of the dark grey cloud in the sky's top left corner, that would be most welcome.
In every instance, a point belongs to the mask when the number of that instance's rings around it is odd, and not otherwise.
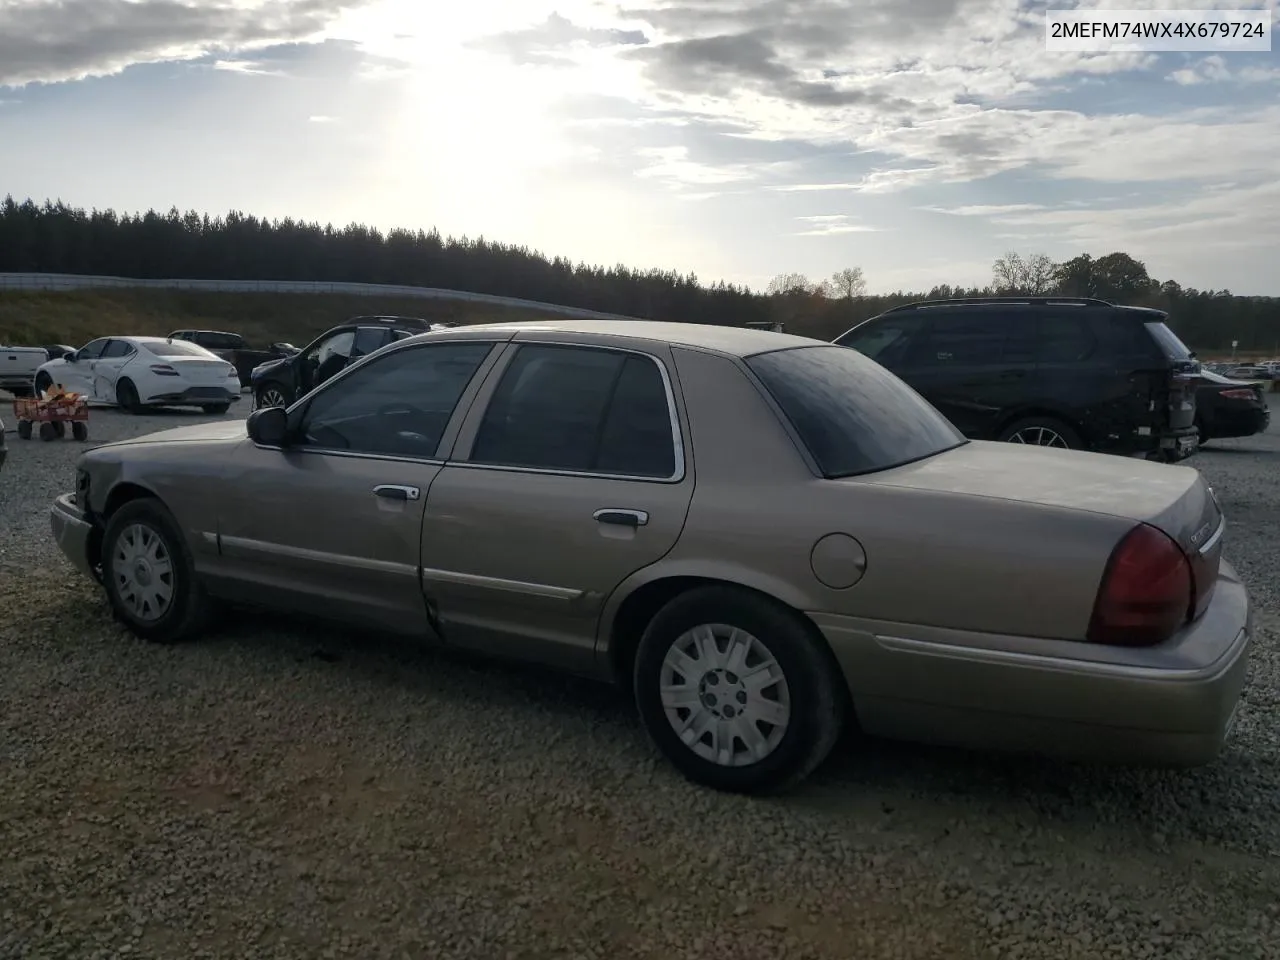
[[[0,86],[82,79],[119,73],[140,63],[189,60],[216,51],[308,40],[356,4],[5,0],[0,4]]]

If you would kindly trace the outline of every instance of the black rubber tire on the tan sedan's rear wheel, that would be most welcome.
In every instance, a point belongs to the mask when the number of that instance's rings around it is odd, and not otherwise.
[[[660,694],[663,662],[682,636],[703,625],[724,625],[759,639],[782,672],[790,692],[790,719],[772,753],[762,760],[722,765],[699,756],[667,717]],[[751,666],[745,663],[744,668],[750,671]],[[724,676],[727,680],[721,682],[739,685],[741,681],[732,672]],[[685,681],[694,685],[691,677]],[[640,639],[632,682],[645,730],[672,765],[695,783],[739,794],[781,792],[809,776],[840,739],[849,705],[840,668],[817,631],[786,607],[732,586],[699,588],[663,607]],[[701,686],[707,682],[703,680]],[[744,696],[741,686],[733,696]],[[726,714],[731,708],[741,709],[735,707],[737,699],[723,707]],[[678,708],[676,710],[678,718]],[[769,733],[760,731],[759,722],[754,728],[768,739]],[[731,749],[740,742],[744,741],[731,737]]]

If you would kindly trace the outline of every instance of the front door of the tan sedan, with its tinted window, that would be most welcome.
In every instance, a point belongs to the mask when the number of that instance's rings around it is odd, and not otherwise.
[[[468,384],[494,352],[454,340],[388,353],[293,410],[283,448],[241,444],[218,511],[219,589],[431,636],[422,508]]]

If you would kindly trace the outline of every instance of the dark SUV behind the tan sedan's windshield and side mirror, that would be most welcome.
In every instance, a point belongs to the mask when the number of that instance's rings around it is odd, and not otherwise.
[[[325,330],[293,356],[259,364],[250,375],[256,407],[287,407],[360,357],[451,324],[411,316],[357,316]]]

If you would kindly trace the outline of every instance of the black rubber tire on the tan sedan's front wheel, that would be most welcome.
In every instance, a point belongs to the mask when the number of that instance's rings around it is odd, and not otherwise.
[[[131,531],[138,527],[159,539],[156,556],[169,561],[169,604],[155,618],[140,616],[129,603],[127,580],[116,570],[122,552],[128,553],[133,539]],[[125,539],[127,534],[129,539]],[[173,513],[157,499],[129,500],[108,520],[102,532],[102,585],[116,620],[143,640],[180,643],[198,634],[209,622],[209,598],[196,579],[191,550]]]

